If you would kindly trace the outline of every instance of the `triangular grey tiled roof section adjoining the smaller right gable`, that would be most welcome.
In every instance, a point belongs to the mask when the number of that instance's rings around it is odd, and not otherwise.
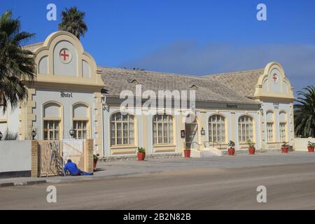
[[[262,75],[264,69],[254,69],[247,71],[235,71],[230,73],[218,73],[202,76],[221,81],[228,85],[233,90],[236,90],[244,97],[253,97],[255,93],[255,85],[258,83],[258,78]]]

